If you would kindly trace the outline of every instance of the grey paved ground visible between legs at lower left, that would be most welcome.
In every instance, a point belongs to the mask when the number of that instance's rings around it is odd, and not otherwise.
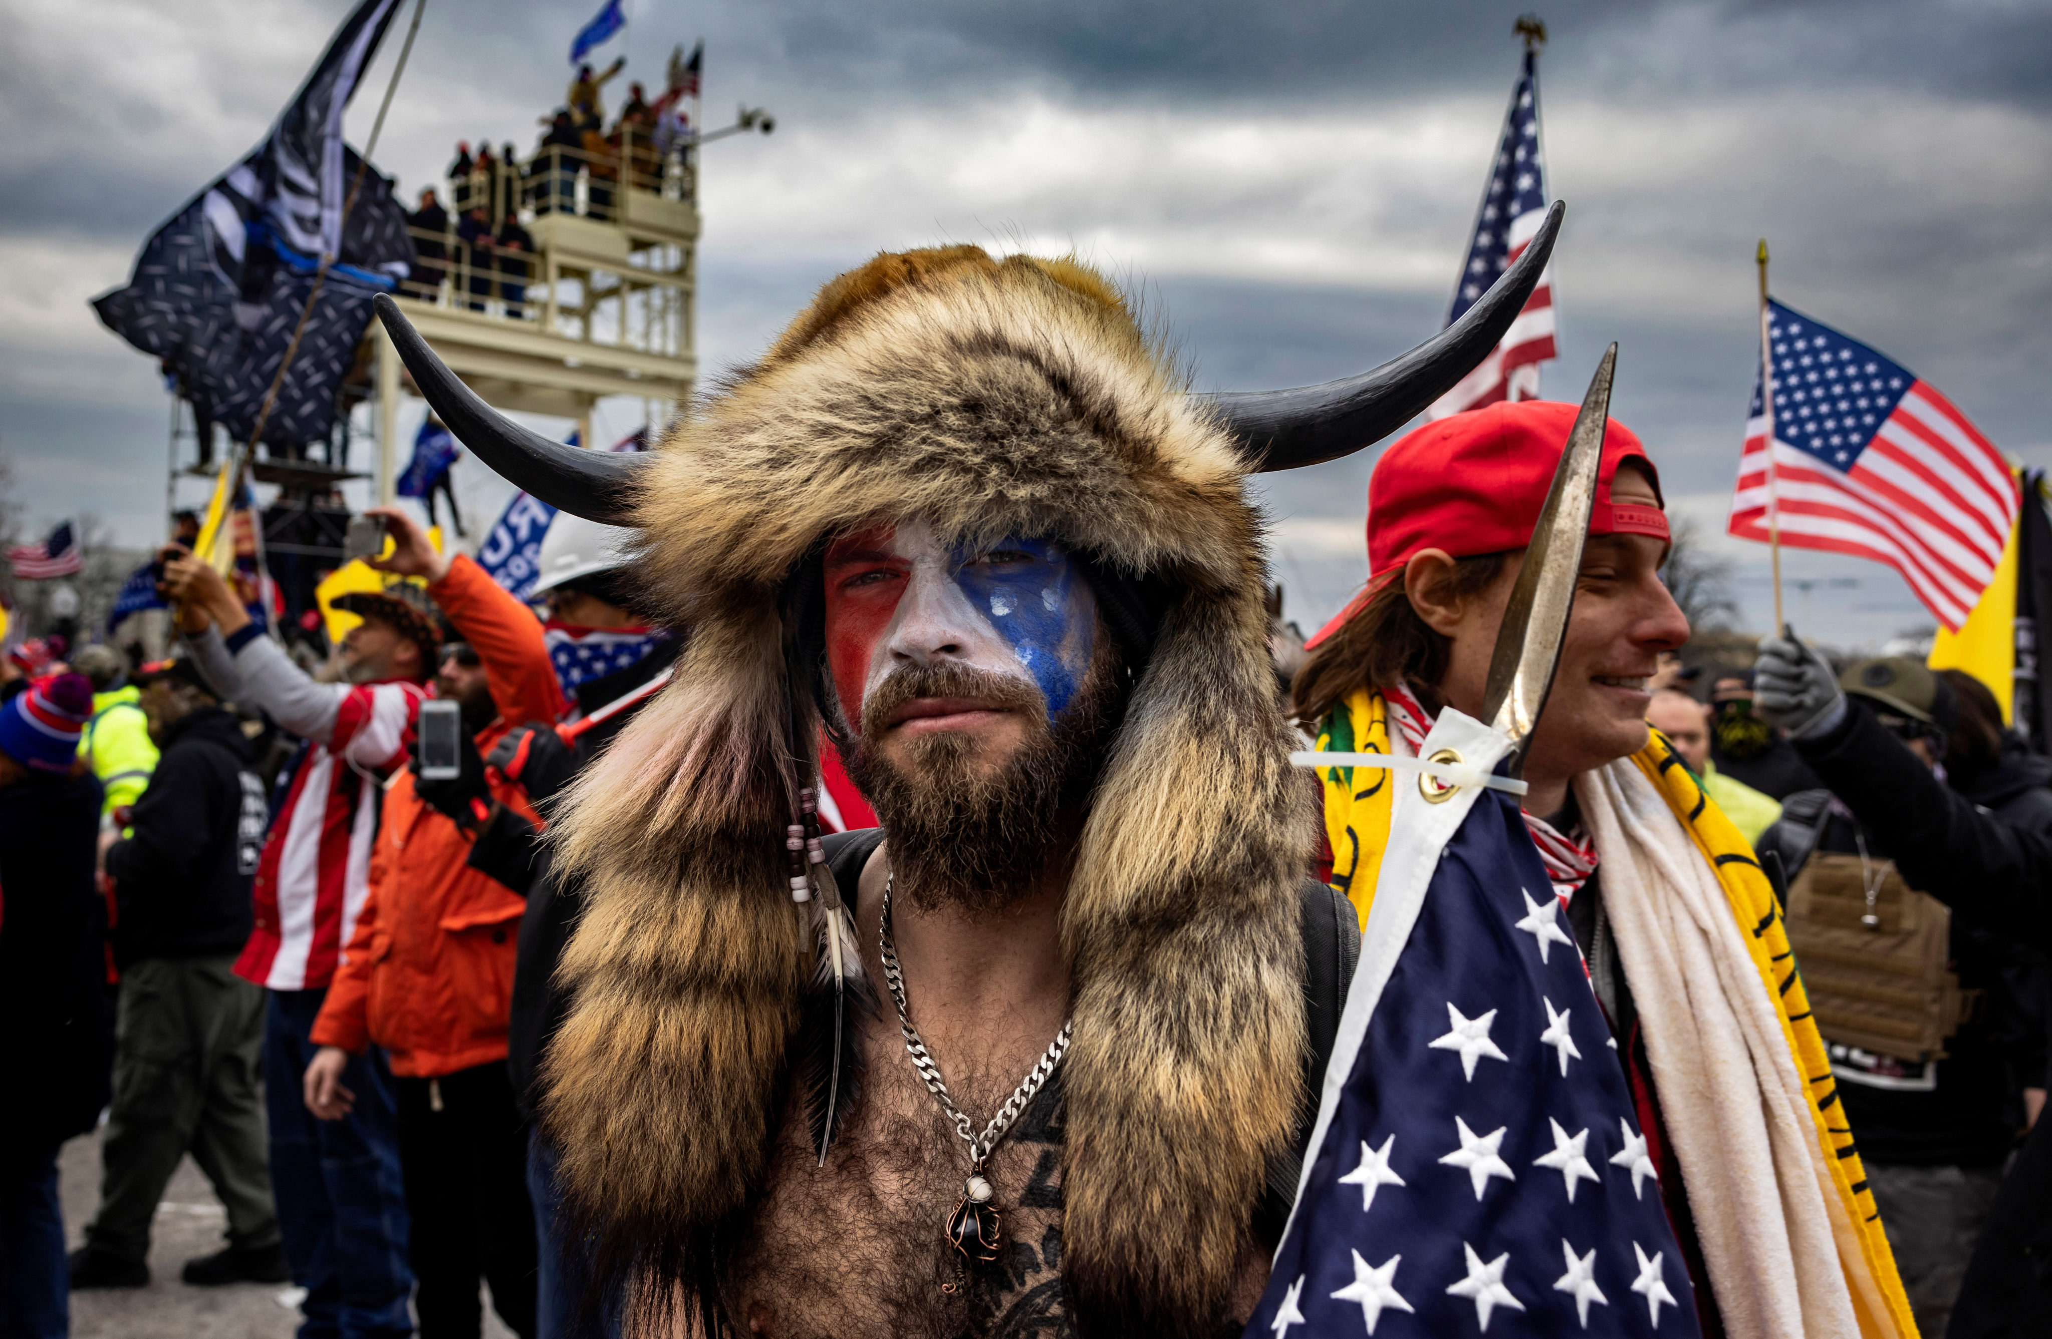
[[[72,1247],[101,1195],[101,1140],[88,1134],[64,1146],[64,1230]],[[72,1294],[72,1339],[291,1339],[298,1298],[277,1284],[189,1288],[179,1269],[224,1243],[222,1202],[185,1159],[156,1208],[150,1241],[150,1286]],[[482,1339],[511,1339],[499,1316],[484,1312]]]

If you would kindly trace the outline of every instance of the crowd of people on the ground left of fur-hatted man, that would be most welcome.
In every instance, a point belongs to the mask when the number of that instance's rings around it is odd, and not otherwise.
[[[337,603],[361,621],[328,675],[181,545],[174,658],[12,666],[0,990],[39,1023],[6,1062],[43,1101],[4,1115],[8,1335],[64,1335],[68,1290],[150,1282],[187,1154],[228,1218],[187,1284],[291,1280],[304,1335],[476,1335],[488,1284],[515,1333],[568,1333],[531,1083],[575,898],[536,839],[677,642],[626,607],[609,527],[550,529],[536,611],[382,515],[398,580]],[[417,775],[429,699],[458,703],[456,779]],[[275,734],[298,748],[267,777]],[[103,1111],[101,1204],[66,1257],[57,1146]]]

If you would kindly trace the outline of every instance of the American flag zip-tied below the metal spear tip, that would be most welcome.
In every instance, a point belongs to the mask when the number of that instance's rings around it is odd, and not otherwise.
[[[1443,712],[1426,753],[1508,740]],[[1297,1206],[1246,1339],[1699,1333],[1625,1070],[1516,802],[1397,783]]]

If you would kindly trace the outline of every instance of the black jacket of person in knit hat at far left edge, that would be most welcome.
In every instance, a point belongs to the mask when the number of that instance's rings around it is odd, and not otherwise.
[[[113,1009],[92,882],[101,783],[29,773],[0,789],[0,1165],[98,1120]]]

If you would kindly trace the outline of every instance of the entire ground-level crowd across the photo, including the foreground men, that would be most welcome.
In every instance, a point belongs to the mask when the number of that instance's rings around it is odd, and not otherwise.
[[[1282,664],[1241,447],[1129,326],[1067,260],[880,256],[687,431],[716,449],[470,422],[564,506],[542,609],[380,509],[392,580],[324,673],[181,545],[170,660],[0,668],[0,1064],[39,1085],[0,1105],[6,1333],[146,1284],[187,1154],[226,1241],[185,1282],[289,1277],[308,1339],[474,1337],[486,1288],[523,1337],[1303,1323],[1256,1298],[1406,810],[1282,759],[1482,716],[1576,408],[1391,445],[1371,580]],[[1668,541],[1613,418],[1510,820],[1555,898],[1504,929],[1586,964],[1611,1048],[1560,1070],[1617,1070],[1603,1167],[1674,1247],[1633,1292],[1703,1335],[2029,1333],[2052,761],[1912,658],[1691,668]],[[1465,1083],[1488,1025],[1430,1044]],[[57,1148],[103,1111],[66,1257]]]

